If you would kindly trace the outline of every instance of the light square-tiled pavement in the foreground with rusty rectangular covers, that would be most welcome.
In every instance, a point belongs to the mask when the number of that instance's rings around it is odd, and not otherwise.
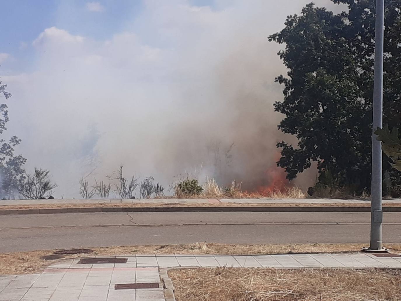
[[[121,255],[116,258],[128,260],[115,264],[78,264],[80,258],[77,258],[55,263],[41,274],[0,276],[0,301],[164,301],[160,273],[165,275],[164,269],[173,267],[401,268],[401,256],[376,257],[365,253]],[[126,283],[159,283],[160,288],[114,289],[115,284]]]

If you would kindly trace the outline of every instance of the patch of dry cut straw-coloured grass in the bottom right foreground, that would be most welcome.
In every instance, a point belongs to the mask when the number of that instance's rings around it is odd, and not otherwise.
[[[399,270],[185,268],[169,270],[177,301],[401,300]]]

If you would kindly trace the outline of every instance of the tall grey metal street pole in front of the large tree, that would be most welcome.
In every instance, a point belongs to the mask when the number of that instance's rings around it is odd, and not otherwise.
[[[375,83],[373,91],[373,131],[383,127],[383,44],[384,0],[376,0],[375,30]],[[383,251],[381,224],[382,197],[382,150],[381,141],[373,134],[372,140],[372,204],[371,204],[371,251]]]

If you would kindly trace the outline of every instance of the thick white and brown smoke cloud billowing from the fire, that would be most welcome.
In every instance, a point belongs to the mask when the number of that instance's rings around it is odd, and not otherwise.
[[[9,132],[22,138],[28,171],[49,169],[57,197],[78,196],[80,177],[120,164],[166,186],[201,166],[201,177],[221,183],[267,184],[283,139],[274,77],[286,72],[282,46],[267,37],[308,1],[145,3],[107,40],[43,28],[30,46],[34,71],[2,77],[13,94]]]

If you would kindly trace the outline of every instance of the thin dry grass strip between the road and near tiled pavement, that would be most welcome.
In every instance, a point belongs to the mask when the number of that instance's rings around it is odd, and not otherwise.
[[[362,244],[177,244],[156,246],[111,246],[92,248],[92,254],[65,256],[65,258],[109,256],[121,254],[288,254],[288,253],[338,253],[358,252]],[[395,252],[401,251],[401,244],[386,244]],[[51,255],[55,250],[14,252],[0,254],[0,275],[36,273],[54,261],[45,261],[41,256]]]

